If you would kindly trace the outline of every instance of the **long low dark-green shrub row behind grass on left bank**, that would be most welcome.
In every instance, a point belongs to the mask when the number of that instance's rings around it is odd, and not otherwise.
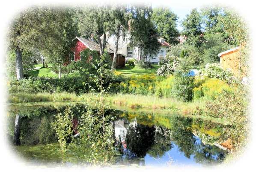
[[[118,85],[123,81],[121,75],[114,75],[109,69],[103,71],[104,87],[107,87],[109,83]],[[87,83],[87,84],[85,84]],[[87,76],[69,75],[58,78],[52,77],[29,77],[22,80],[11,80],[9,84],[9,92],[74,92],[76,94],[83,94],[89,92],[91,89],[96,88],[95,83]]]

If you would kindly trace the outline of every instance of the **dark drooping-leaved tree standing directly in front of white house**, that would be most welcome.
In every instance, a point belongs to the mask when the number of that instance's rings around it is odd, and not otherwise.
[[[151,21],[152,7],[131,6],[130,12],[130,45],[138,50],[140,66],[145,66],[160,49],[158,33]]]

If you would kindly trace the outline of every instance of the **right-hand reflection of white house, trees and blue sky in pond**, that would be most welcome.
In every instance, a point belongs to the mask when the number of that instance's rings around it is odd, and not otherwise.
[[[215,164],[223,161],[226,151],[213,144],[205,144],[193,133],[200,132],[199,126],[205,127],[213,135],[219,125],[209,125],[192,118],[157,117],[150,114],[124,113],[115,121],[115,137],[120,145],[119,163],[170,165],[172,164]],[[160,120],[161,119],[161,120]],[[168,128],[164,125],[168,119]],[[201,129],[202,130],[202,129]],[[196,132],[195,132],[196,131]],[[213,136],[214,137],[214,136]],[[136,160],[136,161],[135,161]]]

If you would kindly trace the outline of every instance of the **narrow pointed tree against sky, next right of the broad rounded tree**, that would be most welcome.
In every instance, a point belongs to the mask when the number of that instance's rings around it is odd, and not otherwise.
[[[186,15],[182,26],[182,34],[187,37],[186,42],[196,47],[201,46],[203,42],[202,16],[196,9],[192,9],[191,13]]]

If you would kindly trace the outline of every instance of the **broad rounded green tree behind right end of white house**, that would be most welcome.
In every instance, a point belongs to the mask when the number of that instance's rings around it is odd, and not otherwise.
[[[176,28],[178,17],[168,8],[153,9],[152,22],[157,27],[158,34],[168,43],[179,43],[179,31]]]

